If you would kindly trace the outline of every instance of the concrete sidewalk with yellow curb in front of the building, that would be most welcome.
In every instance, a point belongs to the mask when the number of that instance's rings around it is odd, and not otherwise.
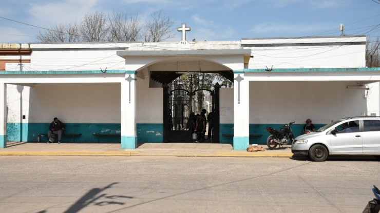
[[[0,156],[177,156],[177,157],[292,157],[290,145],[283,149],[248,152],[234,150],[231,144],[144,143],[136,149],[122,149],[121,144],[97,143],[24,143],[8,142]]]

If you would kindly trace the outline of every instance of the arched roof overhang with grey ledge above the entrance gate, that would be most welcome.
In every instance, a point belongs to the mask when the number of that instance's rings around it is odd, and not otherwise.
[[[118,51],[117,55],[124,59],[136,59],[137,57],[152,57],[156,61],[149,67],[150,79],[165,84],[177,79],[183,73],[205,72],[219,73],[226,79],[233,81],[233,69],[212,60],[215,57],[241,57],[241,65],[248,63],[250,49],[211,49],[211,50],[156,50],[156,51]],[[206,57],[208,57],[206,59]],[[143,66],[144,67],[144,66]]]

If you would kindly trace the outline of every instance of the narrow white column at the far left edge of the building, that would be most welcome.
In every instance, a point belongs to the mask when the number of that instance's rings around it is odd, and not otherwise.
[[[7,147],[7,84],[0,83],[0,148]]]

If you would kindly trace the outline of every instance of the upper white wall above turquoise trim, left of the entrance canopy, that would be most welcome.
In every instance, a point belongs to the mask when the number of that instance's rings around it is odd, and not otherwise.
[[[118,48],[125,43],[31,44],[32,70],[121,70],[125,60],[118,56]]]

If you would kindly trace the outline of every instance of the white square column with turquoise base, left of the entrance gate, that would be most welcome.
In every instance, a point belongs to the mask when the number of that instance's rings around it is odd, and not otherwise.
[[[136,71],[126,71],[121,82],[121,148],[137,148]]]

